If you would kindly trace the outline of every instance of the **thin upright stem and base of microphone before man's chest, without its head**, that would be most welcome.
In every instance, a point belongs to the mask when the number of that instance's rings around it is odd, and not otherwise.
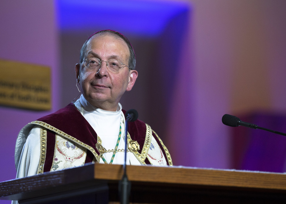
[[[131,182],[128,180],[126,175],[126,157],[127,157],[127,130],[128,130],[128,121],[130,117],[126,117],[125,121],[125,154],[124,154],[124,164],[123,164],[123,176],[119,181],[119,191],[120,191],[120,203],[128,204],[129,203],[129,195],[131,191]]]

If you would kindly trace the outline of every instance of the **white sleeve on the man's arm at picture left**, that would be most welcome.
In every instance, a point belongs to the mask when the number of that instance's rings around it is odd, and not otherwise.
[[[36,175],[40,162],[40,126],[35,126],[28,134],[23,146],[16,178]]]

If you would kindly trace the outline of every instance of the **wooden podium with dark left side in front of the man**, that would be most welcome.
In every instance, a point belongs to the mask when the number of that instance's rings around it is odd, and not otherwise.
[[[127,166],[132,203],[286,203],[286,174]],[[0,183],[19,203],[118,202],[122,165],[90,164]]]

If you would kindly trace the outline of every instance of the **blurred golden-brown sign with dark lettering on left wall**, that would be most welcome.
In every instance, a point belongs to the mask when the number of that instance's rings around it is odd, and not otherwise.
[[[51,109],[50,68],[0,60],[0,105]]]

